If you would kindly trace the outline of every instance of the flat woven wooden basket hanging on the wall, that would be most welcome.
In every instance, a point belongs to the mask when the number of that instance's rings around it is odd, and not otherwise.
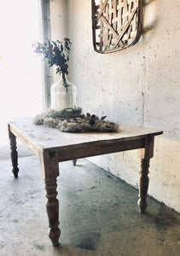
[[[142,0],[92,0],[93,45],[111,53],[136,44],[142,30]]]

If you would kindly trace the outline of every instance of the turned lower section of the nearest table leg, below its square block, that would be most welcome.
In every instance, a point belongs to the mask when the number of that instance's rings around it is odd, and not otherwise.
[[[48,199],[46,203],[46,210],[49,218],[49,238],[52,241],[53,246],[58,246],[61,230],[59,225],[59,201],[57,200],[57,184],[56,177],[45,178],[46,197]]]

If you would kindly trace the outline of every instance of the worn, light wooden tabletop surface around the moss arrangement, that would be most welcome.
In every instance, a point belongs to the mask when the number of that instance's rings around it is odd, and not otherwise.
[[[89,132],[89,133],[68,133],[57,129],[35,125],[33,118],[12,119],[9,121],[9,129],[23,143],[39,154],[39,151],[65,150],[68,148],[84,148],[85,145],[98,146],[100,143],[122,143],[137,140],[151,135],[156,136],[163,133],[143,126],[119,124],[119,132]]]

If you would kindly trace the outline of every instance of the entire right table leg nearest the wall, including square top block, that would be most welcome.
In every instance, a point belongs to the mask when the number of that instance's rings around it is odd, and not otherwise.
[[[140,148],[137,151],[139,158],[141,159],[141,169],[140,169],[140,177],[139,177],[139,200],[137,201],[137,205],[139,207],[139,211],[144,213],[147,203],[147,195],[148,195],[148,168],[149,161],[154,156],[154,136],[146,137],[145,148]]]

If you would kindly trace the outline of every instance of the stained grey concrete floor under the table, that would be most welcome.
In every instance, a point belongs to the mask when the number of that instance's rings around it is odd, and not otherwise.
[[[36,156],[0,161],[0,255],[180,255],[180,215],[148,198],[145,214],[138,192],[87,160],[60,163],[61,245],[47,235],[44,181]]]

